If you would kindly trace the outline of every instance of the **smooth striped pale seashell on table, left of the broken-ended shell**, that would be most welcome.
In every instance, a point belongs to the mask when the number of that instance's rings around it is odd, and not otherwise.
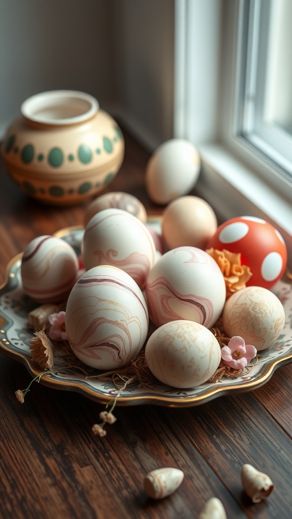
[[[182,470],[172,467],[153,470],[144,477],[145,493],[152,499],[163,499],[180,486],[183,477]]]

